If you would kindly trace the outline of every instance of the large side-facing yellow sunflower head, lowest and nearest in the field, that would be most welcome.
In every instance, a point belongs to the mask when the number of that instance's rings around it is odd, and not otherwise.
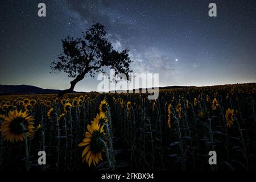
[[[90,164],[98,164],[102,160],[101,152],[104,149],[104,126],[93,121],[91,125],[87,125],[88,131],[85,133],[85,138],[79,144],[79,147],[85,146],[82,151],[82,162],[86,160],[89,167]]]

